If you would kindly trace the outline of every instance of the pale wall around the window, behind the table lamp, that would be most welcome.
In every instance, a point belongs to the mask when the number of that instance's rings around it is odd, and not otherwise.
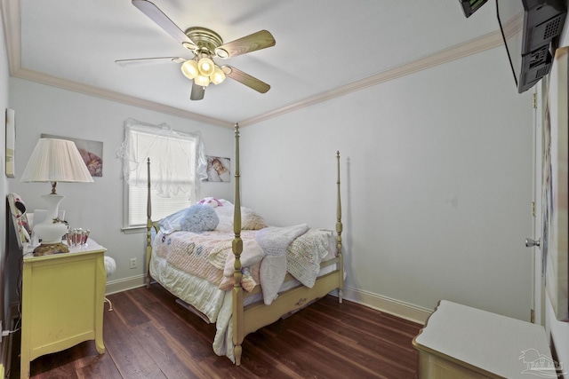
[[[108,249],[116,260],[116,273],[109,277],[115,288],[142,284],[146,235],[121,232],[123,217],[123,181],[121,162],[116,149],[124,139],[124,120],[132,117],[150,123],[166,122],[175,130],[200,130],[205,154],[233,156],[233,130],[188,121],[168,114],[94,98],[72,91],[10,79],[12,108],[16,112],[16,178],[9,179],[12,192],[19,193],[28,209],[44,209],[41,195],[49,193],[46,183],[21,183],[20,177],[37,139],[42,133],[103,142],[103,176],[94,183],[58,183],[58,193],[65,196],[60,209],[66,210],[71,227],[91,229],[92,239]],[[220,198],[233,198],[228,183],[204,183],[201,193]],[[131,257],[138,258],[138,268],[129,269]],[[135,280],[132,280],[132,278]],[[122,281],[126,281],[121,285]],[[114,288],[113,286],[110,286]],[[109,287],[108,287],[109,288]]]

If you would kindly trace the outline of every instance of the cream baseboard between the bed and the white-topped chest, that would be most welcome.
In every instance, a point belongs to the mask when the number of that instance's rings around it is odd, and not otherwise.
[[[410,320],[419,324],[425,324],[429,315],[433,312],[427,308],[408,304],[387,296],[373,294],[357,288],[344,288],[343,297],[350,302],[365,305],[397,316],[404,320]]]

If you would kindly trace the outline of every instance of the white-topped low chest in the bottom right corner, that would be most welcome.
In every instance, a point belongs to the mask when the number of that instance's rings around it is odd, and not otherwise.
[[[445,300],[413,347],[420,378],[557,377],[543,327]]]

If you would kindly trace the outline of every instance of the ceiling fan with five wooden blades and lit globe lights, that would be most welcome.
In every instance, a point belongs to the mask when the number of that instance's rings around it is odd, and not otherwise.
[[[223,43],[220,35],[208,28],[187,28],[182,31],[172,20],[168,18],[155,4],[148,0],[132,0],[132,5],[146,14],[150,20],[163,28],[166,33],[181,43],[189,51],[194,53],[193,59],[180,57],[159,57],[141,59],[118,59],[116,64],[120,66],[135,65],[148,61],[168,61],[181,63],[180,69],[183,75],[193,80],[191,100],[204,99],[205,87],[209,83],[219,84],[226,76],[242,83],[252,90],[265,93],[270,85],[260,81],[252,75],[245,74],[236,67],[228,65],[219,66],[213,61],[214,58],[228,59],[243,55],[251,51],[265,49],[275,45],[275,38],[267,31],[260,30],[249,36]]]

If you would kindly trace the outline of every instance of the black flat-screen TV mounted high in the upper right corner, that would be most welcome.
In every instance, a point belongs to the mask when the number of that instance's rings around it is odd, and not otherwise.
[[[496,0],[496,15],[508,51],[517,91],[549,74],[565,23],[564,0]]]

